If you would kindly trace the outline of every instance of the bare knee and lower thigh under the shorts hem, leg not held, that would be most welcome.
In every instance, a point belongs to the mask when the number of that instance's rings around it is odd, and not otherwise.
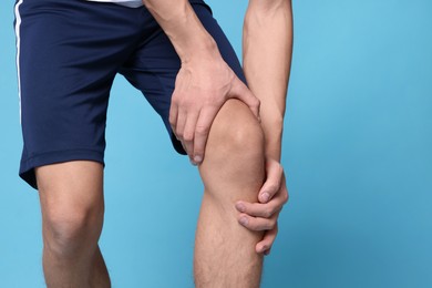
[[[104,200],[102,165],[66,162],[35,169],[44,248],[73,257],[94,248],[101,234]]]

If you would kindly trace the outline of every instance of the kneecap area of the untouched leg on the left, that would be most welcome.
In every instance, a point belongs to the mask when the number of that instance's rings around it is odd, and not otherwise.
[[[45,207],[42,214],[44,245],[55,256],[74,257],[97,245],[103,223],[100,205],[59,205]]]

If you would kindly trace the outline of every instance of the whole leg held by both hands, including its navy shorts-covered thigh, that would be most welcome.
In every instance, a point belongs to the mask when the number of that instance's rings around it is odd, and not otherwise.
[[[195,12],[217,41],[224,60],[245,81],[241,66],[212,17],[203,4]],[[154,21],[151,40],[122,66],[121,73],[161,114],[175,148],[185,153],[169,127],[168,113],[181,60],[168,38]],[[144,64],[145,63],[145,64]],[[222,288],[254,288],[259,286],[263,256],[255,245],[263,233],[254,233],[237,222],[238,199],[257,202],[264,178],[264,135],[250,110],[237,100],[229,100],[214,120],[199,172],[205,193],[196,233],[194,275],[196,286]]]

